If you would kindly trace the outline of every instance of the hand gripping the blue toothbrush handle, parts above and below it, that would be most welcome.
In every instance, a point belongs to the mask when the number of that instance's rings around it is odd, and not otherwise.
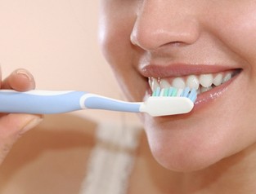
[[[25,69],[17,69],[9,77],[1,82],[0,88],[19,91],[33,90],[35,88],[34,77]],[[42,115],[30,114],[0,114],[0,165],[10,151],[11,146],[26,131],[34,128],[43,120]]]

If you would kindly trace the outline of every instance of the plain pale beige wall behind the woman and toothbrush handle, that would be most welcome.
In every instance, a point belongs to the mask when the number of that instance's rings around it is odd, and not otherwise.
[[[97,42],[96,0],[0,1],[3,77],[28,68],[42,90],[88,90],[124,99]],[[79,117],[113,121],[132,114],[87,110]]]

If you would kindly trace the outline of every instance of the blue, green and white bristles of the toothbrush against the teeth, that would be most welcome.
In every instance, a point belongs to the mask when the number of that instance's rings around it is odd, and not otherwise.
[[[191,99],[191,101],[195,103],[197,92],[195,89],[191,89],[190,87],[186,87],[185,89],[177,89],[175,87],[161,89],[160,87],[157,87],[153,91],[152,96],[186,97],[188,99]]]

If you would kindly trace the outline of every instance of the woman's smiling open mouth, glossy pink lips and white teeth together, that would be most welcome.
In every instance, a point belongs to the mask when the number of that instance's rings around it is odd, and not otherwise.
[[[141,68],[141,74],[149,79],[150,90],[156,87],[195,88],[197,106],[221,96],[240,72],[241,68],[197,64],[147,65]]]

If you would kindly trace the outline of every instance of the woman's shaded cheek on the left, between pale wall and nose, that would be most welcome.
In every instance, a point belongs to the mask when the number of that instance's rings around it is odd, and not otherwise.
[[[137,92],[145,80],[137,73],[137,51],[130,42],[134,17],[121,18],[107,16],[100,25],[101,51],[115,73],[119,86],[129,100],[141,100],[142,92]],[[135,87],[137,86],[137,87]]]

